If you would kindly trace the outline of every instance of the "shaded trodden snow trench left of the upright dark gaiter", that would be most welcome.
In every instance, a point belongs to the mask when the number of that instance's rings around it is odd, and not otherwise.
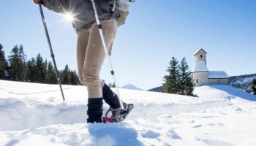
[[[34,100],[0,99],[0,131],[17,131],[51,124],[86,121],[83,104],[49,104]]]

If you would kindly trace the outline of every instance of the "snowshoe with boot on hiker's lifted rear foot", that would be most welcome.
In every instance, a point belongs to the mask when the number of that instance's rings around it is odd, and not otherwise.
[[[112,109],[110,108],[108,112],[106,112],[105,117],[102,118],[103,123],[117,123],[122,122],[127,118],[127,115],[129,115],[129,112],[133,109],[133,104],[125,104],[124,103],[124,110],[121,110],[121,108],[118,109]],[[112,112],[112,115],[108,117],[108,113]]]

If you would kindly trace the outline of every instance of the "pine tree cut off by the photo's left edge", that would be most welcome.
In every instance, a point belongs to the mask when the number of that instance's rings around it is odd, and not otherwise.
[[[6,74],[4,72],[7,72],[8,64],[7,60],[5,58],[4,53],[4,47],[0,44],[0,79],[6,78]]]

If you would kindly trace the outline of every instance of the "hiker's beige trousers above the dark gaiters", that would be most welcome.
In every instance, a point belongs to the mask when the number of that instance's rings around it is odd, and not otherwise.
[[[116,35],[116,20],[102,20],[101,22],[106,43],[110,47]],[[89,98],[101,98],[104,84],[99,79],[99,72],[105,60],[105,50],[97,23],[89,29],[82,29],[78,32],[77,45],[79,80],[87,86]]]

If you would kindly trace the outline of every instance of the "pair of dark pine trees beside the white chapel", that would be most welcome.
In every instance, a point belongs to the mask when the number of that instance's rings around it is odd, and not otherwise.
[[[173,57],[170,60],[167,73],[163,77],[163,92],[195,96],[193,94],[195,84],[193,83],[192,72],[189,70],[186,58],[183,58],[179,64],[179,61]]]

